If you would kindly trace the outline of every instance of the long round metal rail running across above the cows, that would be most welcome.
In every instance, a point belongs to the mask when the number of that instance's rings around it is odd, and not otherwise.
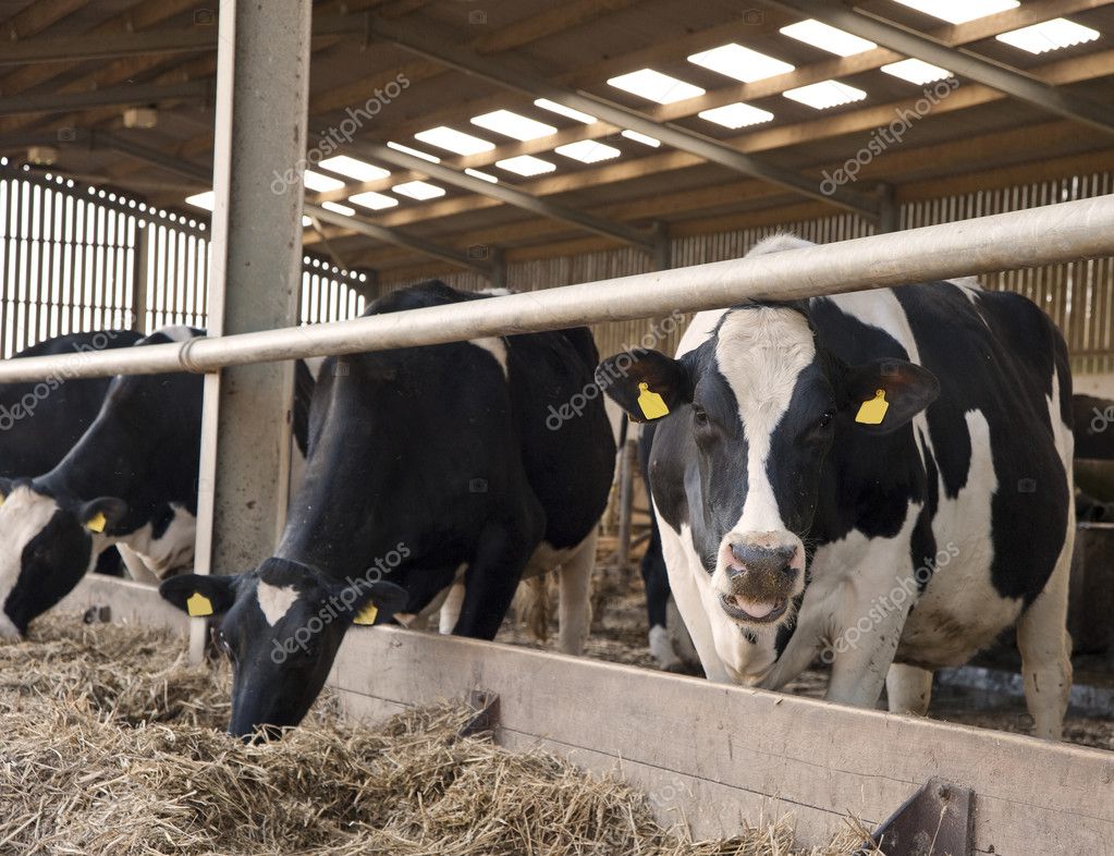
[[[0,362],[0,383],[50,376],[209,372],[251,362],[716,309],[751,299],[799,300],[1097,255],[1114,255],[1114,195],[449,307],[184,343],[6,360]]]

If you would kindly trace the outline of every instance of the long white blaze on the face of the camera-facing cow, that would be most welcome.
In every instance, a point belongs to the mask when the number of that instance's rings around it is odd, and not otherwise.
[[[791,309],[739,310],[720,327],[715,359],[739,402],[739,418],[746,434],[749,480],[742,515],[724,535],[716,560],[713,584],[721,592],[730,592],[725,570],[732,543],[792,544],[798,548],[792,566],[804,567],[803,545],[781,519],[768,464],[773,431],[789,409],[797,379],[815,356],[808,321]],[[801,576],[799,586],[803,586]]]

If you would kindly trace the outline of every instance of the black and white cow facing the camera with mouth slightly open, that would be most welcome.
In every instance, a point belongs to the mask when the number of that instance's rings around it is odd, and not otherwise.
[[[775,689],[820,653],[830,700],[886,684],[924,713],[934,670],[1016,624],[1035,731],[1058,737],[1072,380],[1047,317],[935,282],[701,313],[680,352],[597,378],[658,417],[662,546],[707,675]]]

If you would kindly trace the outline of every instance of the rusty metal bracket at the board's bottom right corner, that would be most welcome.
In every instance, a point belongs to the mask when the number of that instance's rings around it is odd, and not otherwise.
[[[929,779],[863,842],[854,856],[971,856],[975,791]]]

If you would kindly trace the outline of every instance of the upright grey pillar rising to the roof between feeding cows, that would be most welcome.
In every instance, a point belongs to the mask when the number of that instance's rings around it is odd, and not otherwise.
[[[310,36],[310,0],[221,3],[211,335],[297,321]],[[274,549],[286,512],[292,389],[290,362],[206,377],[198,573],[245,571]],[[196,656],[202,642],[192,645]]]

